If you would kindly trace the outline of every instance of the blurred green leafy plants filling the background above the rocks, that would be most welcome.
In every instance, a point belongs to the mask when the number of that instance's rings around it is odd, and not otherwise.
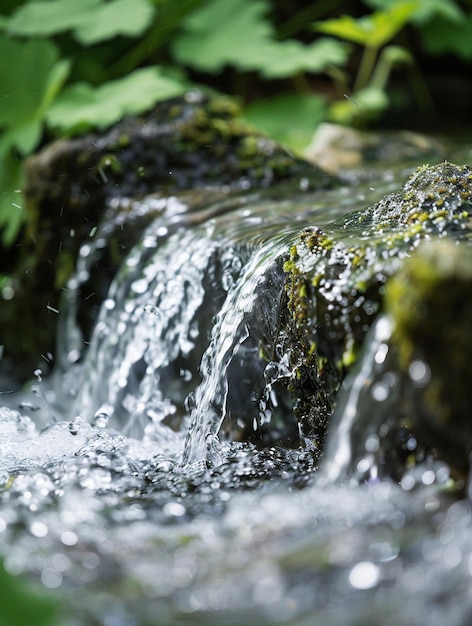
[[[447,130],[472,102],[472,0],[3,0],[0,229],[22,162],[192,88],[303,153],[322,121]]]

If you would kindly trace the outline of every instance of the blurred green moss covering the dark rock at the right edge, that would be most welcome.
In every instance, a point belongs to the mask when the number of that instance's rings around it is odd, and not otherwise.
[[[415,427],[453,467],[468,471],[472,248],[444,238],[423,243],[387,284],[385,308],[400,371],[412,388]],[[416,382],[415,363],[428,372],[427,384]]]

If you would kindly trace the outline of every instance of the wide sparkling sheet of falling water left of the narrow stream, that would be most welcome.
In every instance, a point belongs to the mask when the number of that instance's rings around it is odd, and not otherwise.
[[[102,305],[74,407],[87,420],[105,407],[120,430],[137,436],[149,421],[177,411],[164,395],[172,375],[166,368],[184,363],[195,348],[203,276],[215,249],[200,231],[162,244],[151,233],[128,256]]]

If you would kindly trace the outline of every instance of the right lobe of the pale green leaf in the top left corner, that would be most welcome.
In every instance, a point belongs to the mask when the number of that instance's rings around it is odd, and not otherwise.
[[[148,0],[115,0],[103,5],[82,26],[75,29],[78,41],[86,44],[116,35],[136,37],[146,30],[154,16]]]

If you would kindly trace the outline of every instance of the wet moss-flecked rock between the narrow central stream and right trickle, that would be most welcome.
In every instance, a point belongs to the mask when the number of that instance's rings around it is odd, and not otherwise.
[[[287,384],[297,420],[318,451],[336,392],[382,309],[389,277],[424,240],[468,240],[471,209],[472,170],[442,163],[418,169],[374,206],[324,231],[300,234],[284,266],[280,346],[289,354]],[[404,315],[410,313],[405,307]]]

